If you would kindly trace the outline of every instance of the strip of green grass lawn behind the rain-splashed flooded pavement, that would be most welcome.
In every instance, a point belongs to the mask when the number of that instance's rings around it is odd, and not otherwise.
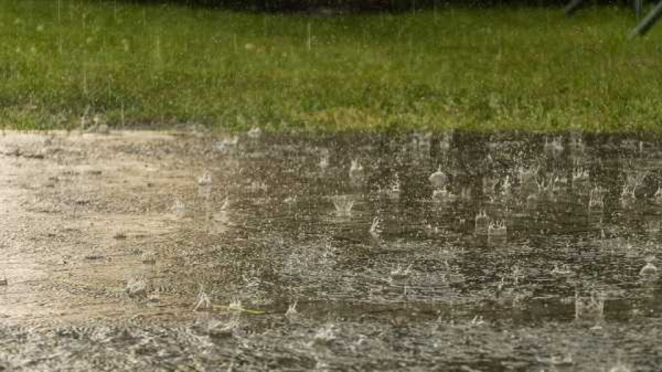
[[[662,25],[627,9],[310,17],[0,3],[0,123],[224,130],[658,130]]]

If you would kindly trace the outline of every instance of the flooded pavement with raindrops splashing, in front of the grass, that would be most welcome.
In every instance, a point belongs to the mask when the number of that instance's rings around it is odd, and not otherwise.
[[[0,370],[658,371],[662,141],[0,137]]]

